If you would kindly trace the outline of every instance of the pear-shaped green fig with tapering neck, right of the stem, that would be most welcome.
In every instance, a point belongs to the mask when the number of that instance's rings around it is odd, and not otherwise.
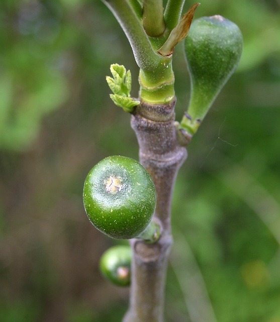
[[[191,100],[181,127],[193,135],[211,104],[238,65],[242,34],[233,22],[221,17],[193,21],[184,49],[191,75]]]

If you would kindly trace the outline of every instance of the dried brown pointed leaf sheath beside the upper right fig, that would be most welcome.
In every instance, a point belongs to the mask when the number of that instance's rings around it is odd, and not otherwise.
[[[183,40],[189,33],[195,12],[200,3],[194,4],[189,11],[182,16],[177,26],[171,31],[165,43],[158,49],[161,56],[169,56],[173,53],[174,47]]]

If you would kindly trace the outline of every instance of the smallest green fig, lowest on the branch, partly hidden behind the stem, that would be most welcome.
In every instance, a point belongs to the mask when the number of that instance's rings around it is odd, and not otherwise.
[[[102,255],[100,270],[112,283],[118,286],[128,286],[130,284],[131,257],[130,246],[113,246]]]

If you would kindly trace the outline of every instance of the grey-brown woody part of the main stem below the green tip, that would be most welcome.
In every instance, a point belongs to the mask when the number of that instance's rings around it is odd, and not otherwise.
[[[133,250],[130,306],[123,322],[162,322],[167,260],[172,246],[170,211],[177,172],[186,158],[174,127],[175,100],[170,104],[141,102],[131,118],[139,143],[140,163],[155,184],[154,216],[162,232],[154,244],[131,239]]]

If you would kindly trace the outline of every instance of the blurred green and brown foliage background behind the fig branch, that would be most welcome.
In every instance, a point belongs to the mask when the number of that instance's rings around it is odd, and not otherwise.
[[[186,9],[192,4],[186,3]],[[202,2],[244,37],[237,72],[188,147],[174,190],[166,318],[280,321],[280,4]],[[0,2],[0,320],[120,321],[128,291],[99,273],[114,241],[88,222],[87,172],[137,158],[129,115],[110,102],[110,64],[138,68],[101,1]],[[174,53],[177,118],[189,100]]]

